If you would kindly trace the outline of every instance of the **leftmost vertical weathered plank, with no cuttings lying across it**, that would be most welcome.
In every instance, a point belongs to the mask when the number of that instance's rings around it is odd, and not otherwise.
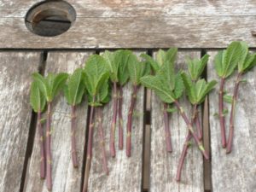
[[[19,191],[32,110],[31,74],[38,52],[0,52],[0,191]]]

